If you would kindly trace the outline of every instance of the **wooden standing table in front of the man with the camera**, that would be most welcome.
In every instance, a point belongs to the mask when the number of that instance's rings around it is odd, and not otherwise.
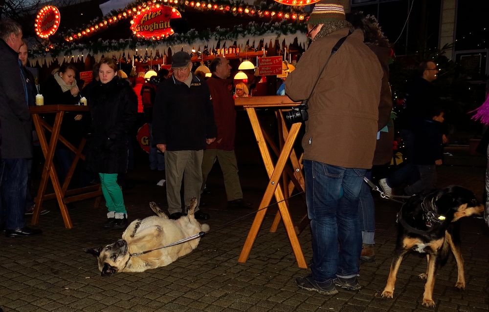
[[[248,97],[248,98],[236,98],[235,105],[243,106],[248,113],[253,132],[260,148],[260,153],[263,158],[263,162],[267,169],[269,177],[267,189],[262,198],[258,212],[255,216],[251,229],[248,232],[246,241],[244,242],[243,250],[241,251],[238,262],[246,262],[253,244],[255,242],[258,230],[260,229],[263,218],[267,213],[267,206],[270,204],[272,196],[275,195],[275,199],[278,202],[277,215],[273,221],[271,232],[275,232],[280,219],[283,220],[287,236],[289,237],[292,251],[294,252],[295,259],[299,268],[307,268],[304,254],[297,238],[297,232],[290,218],[289,208],[287,201],[284,199],[292,192],[294,188],[304,191],[304,177],[302,174],[302,166],[297,158],[293,145],[299,133],[302,123],[295,123],[288,129],[283,117],[283,110],[289,110],[292,106],[297,106],[300,103],[292,102],[287,96],[263,96],[263,97]],[[279,138],[280,146],[277,147],[269,138],[266,132],[263,131],[258,120],[256,113],[257,108],[277,108],[276,116],[279,125]],[[274,165],[270,149],[278,156],[277,162]],[[287,166],[288,160],[290,160],[290,166]],[[260,210],[263,209],[263,210]],[[304,220],[304,218],[303,218]]]

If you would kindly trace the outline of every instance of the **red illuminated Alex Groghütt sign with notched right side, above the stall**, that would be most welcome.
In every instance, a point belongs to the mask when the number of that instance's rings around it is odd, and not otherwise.
[[[138,11],[131,21],[131,30],[138,38],[162,39],[173,35],[171,19],[180,19],[177,9],[156,4]]]

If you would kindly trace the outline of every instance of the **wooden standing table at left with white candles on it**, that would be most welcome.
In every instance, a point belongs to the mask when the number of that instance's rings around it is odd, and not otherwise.
[[[63,123],[63,117],[66,112],[88,112],[88,106],[82,105],[41,105],[41,106],[31,106],[29,110],[32,114],[32,120],[34,121],[34,126],[39,137],[39,143],[44,154],[44,168],[43,174],[41,176],[41,183],[39,185],[39,190],[35,198],[35,207],[32,214],[32,224],[36,225],[39,223],[39,212],[43,206],[43,201],[47,199],[54,199],[58,201],[58,205],[61,210],[61,215],[63,216],[63,221],[65,222],[65,227],[67,229],[73,228],[71,223],[71,218],[69,217],[68,209],[66,204],[84,200],[87,198],[97,197],[95,201],[95,206],[98,206],[100,202],[100,196],[102,191],[100,185],[93,185],[89,187],[80,187],[68,190],[69,182],[73,176],[76,165],[80,159],[85,160],[85,155],[82,154],[83,147],[85,146],[86,139],[83,138],[78,147],[73,146],[64,137],[60,135],[61,124]],[[51,126],[44,121],[41,115],[45,114],[56,114],[54,119],[54,124]],[[71,116],[70,116],[71,117]],[[88,118],[85,116],[84,118]],[[82,129],[80,129],[82,130]],[[51,138],[49,144],[46,139],[46,131],[51,132]],[[58,175],[56,174],[56,169],[53,165],[54,151],[56,145],[62,143],[67,146],[73,153],[75,153],[75,158],[71,167],[68,170],[63,186],[60,185]],[[54,193],[46,194],[46,186],[48,179],[51,180]]]

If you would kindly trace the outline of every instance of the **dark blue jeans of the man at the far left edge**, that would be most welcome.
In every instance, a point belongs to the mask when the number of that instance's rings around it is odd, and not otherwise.
[[[2,159],[0,164],[1,223],[5,229],[20,229],[25,226],[27,159]]]

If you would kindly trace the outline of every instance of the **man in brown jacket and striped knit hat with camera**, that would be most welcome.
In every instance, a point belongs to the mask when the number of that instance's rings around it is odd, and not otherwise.
[[[308,20],[312,43],[285,82],[294,101],[311,94],[302,146],[312,274],[296,282],[323,294],[337,293],[335,285],[360,289],[358,196],[363,176],[372,167],[378,131],[382,68],[363,43],[362,32],[348,36],[321,72],[333,46],[351,27],[339,1],[316,3]]]

